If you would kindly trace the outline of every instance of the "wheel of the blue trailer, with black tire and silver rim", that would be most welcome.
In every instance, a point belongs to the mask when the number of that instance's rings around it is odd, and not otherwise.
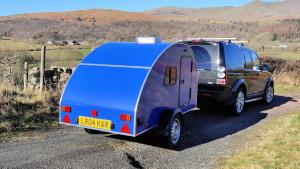
[[[183,123],[179,114],[177,114],[173,118],[171,118],[169,123],[167,124],[165,141],[168,148],[177,149],[179,147],[182,139],[182,131]]]

